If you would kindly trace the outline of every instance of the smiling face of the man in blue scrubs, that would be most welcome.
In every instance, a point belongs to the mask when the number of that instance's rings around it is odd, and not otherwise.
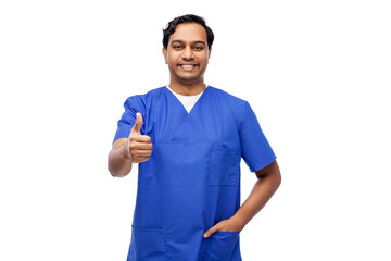
[[[177,25],[169,36],[163,55],[168,64],[171,83],[203,84],[211,50],[207,48],[206,32],[197,23]]]

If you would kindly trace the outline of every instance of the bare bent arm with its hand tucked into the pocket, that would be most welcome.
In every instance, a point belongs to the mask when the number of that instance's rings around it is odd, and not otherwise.
[[[216,231],[242,231],[250,220],[267,203],[281,183],[277,161],[255,172],[255,174],[258,179],[244,203],[230,219],[217,223],[205,232],[204,237],[211,236]]]

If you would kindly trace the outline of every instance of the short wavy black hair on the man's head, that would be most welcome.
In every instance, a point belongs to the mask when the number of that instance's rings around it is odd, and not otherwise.
[[[194,15],[194,14],[186,14],[182,16],[175,17],[173,21],[171,21],[166,28],[163,29],[163,47],[167,49],[169,36],[174,34],[177,25],[179,24],[190,24],[195,23],[199,25],[202,25],[206,30],[206,39],[207,39],[207,47],[209,49],[212,48],[212,44],[214,40],[214,34],[213,30],[206,25],[205,20],[201,16]]]

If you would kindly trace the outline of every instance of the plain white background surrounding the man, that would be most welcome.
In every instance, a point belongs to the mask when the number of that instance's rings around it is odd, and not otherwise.
[[[248,100],[282,184],[245,261],[391,260],[389,1],[0,3],[0,260],[125,260],[136,175],[106,170],[130,95],[168,83],[162,28],[215,33],[206,82]],[[242,199],[255,183],[242,165]]]

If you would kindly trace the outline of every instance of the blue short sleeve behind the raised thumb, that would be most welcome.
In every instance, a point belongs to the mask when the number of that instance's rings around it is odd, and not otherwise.
[[[141,134],[144,133],[144,123],[146,123],[146,105],[141,96],[133,96],[126,99],[124,102],[125,112],[122,114],[118,123],[117,130],[114,136],[114,141],[118,138],[127,138],[130,134],[130,130],[136,122],[136,113],[140,112],[142,115],[142,126]]]

